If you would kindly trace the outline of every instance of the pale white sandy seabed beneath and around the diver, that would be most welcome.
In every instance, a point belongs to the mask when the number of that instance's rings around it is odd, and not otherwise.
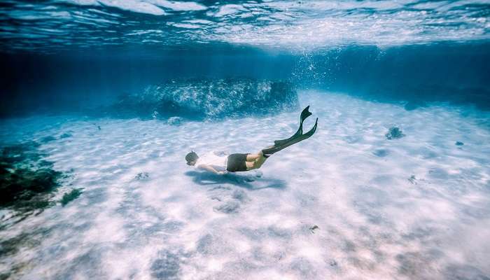
[[[39,150],[83,193],[1,230],[2,240],[22,235],[25,242],[0,255],[0,272],[13,279],[490,279],[488,113],[447,104],[405,111],[320,92],[301,92],[300,104],[314,113],[305,130],[319,118],[314,137],[276,153],[260,172],[225,176],[188,167],[184,156],[260,151],[295,132],[300,109],[181,125],[2,120],[3,143],[55,137]],[[393,126],[406,136],[386,139]]]

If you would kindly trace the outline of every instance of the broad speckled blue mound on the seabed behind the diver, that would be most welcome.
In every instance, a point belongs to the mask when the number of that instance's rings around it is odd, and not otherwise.
[[[284,81],[252,78],[169,80],[127,94],[106,108],[117,117],[192,120],[276,113],[297,109],[297,92]],[[172,121],[172,124],[180,123]]]

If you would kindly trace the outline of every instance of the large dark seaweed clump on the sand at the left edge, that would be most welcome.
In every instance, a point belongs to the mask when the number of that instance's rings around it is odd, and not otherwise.
[[[31,212],[49,207],[62,172],[43,160],[36,142],[4,147],[0,154],[0,208]]]

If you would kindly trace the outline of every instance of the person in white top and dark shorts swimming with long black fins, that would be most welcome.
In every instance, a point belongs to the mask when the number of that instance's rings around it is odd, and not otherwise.
[[[232,153],[226,155],[225,153],[209,152],[201,157],[194,151],[191,151],[186,155],[187,165],[195,166],[199,169],[204,169],[216,174],[225,174],[226,172],[245,172],[252,169],[260,168],[265,160],[270,155],[281,151],[283,148],[287,148],[293,144],[296,144],[304,139],[308,139],[316,131],[316,125],[318,124],[318,118],[316,118],[315,125],[309,132],[303,133],[303,122],[306,118],[311,116],[307,106],[300,116],[300,127],[292,137],[283,140],[274,141],[274,145],[264,148],[258,153]]]

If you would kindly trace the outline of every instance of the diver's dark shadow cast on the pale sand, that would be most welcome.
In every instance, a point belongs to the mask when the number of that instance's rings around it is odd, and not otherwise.
[[[193,177],[193,181],[202,186],[215,184],[231,184],[248,190],[260,190],[262,188],[277,188],[284,189],[287,187],[286,181],[281,179],[264,179],[257,176],[224,174],[218,175],[211,172],[195,172],[190,171],[185,173],[187,176]]]

